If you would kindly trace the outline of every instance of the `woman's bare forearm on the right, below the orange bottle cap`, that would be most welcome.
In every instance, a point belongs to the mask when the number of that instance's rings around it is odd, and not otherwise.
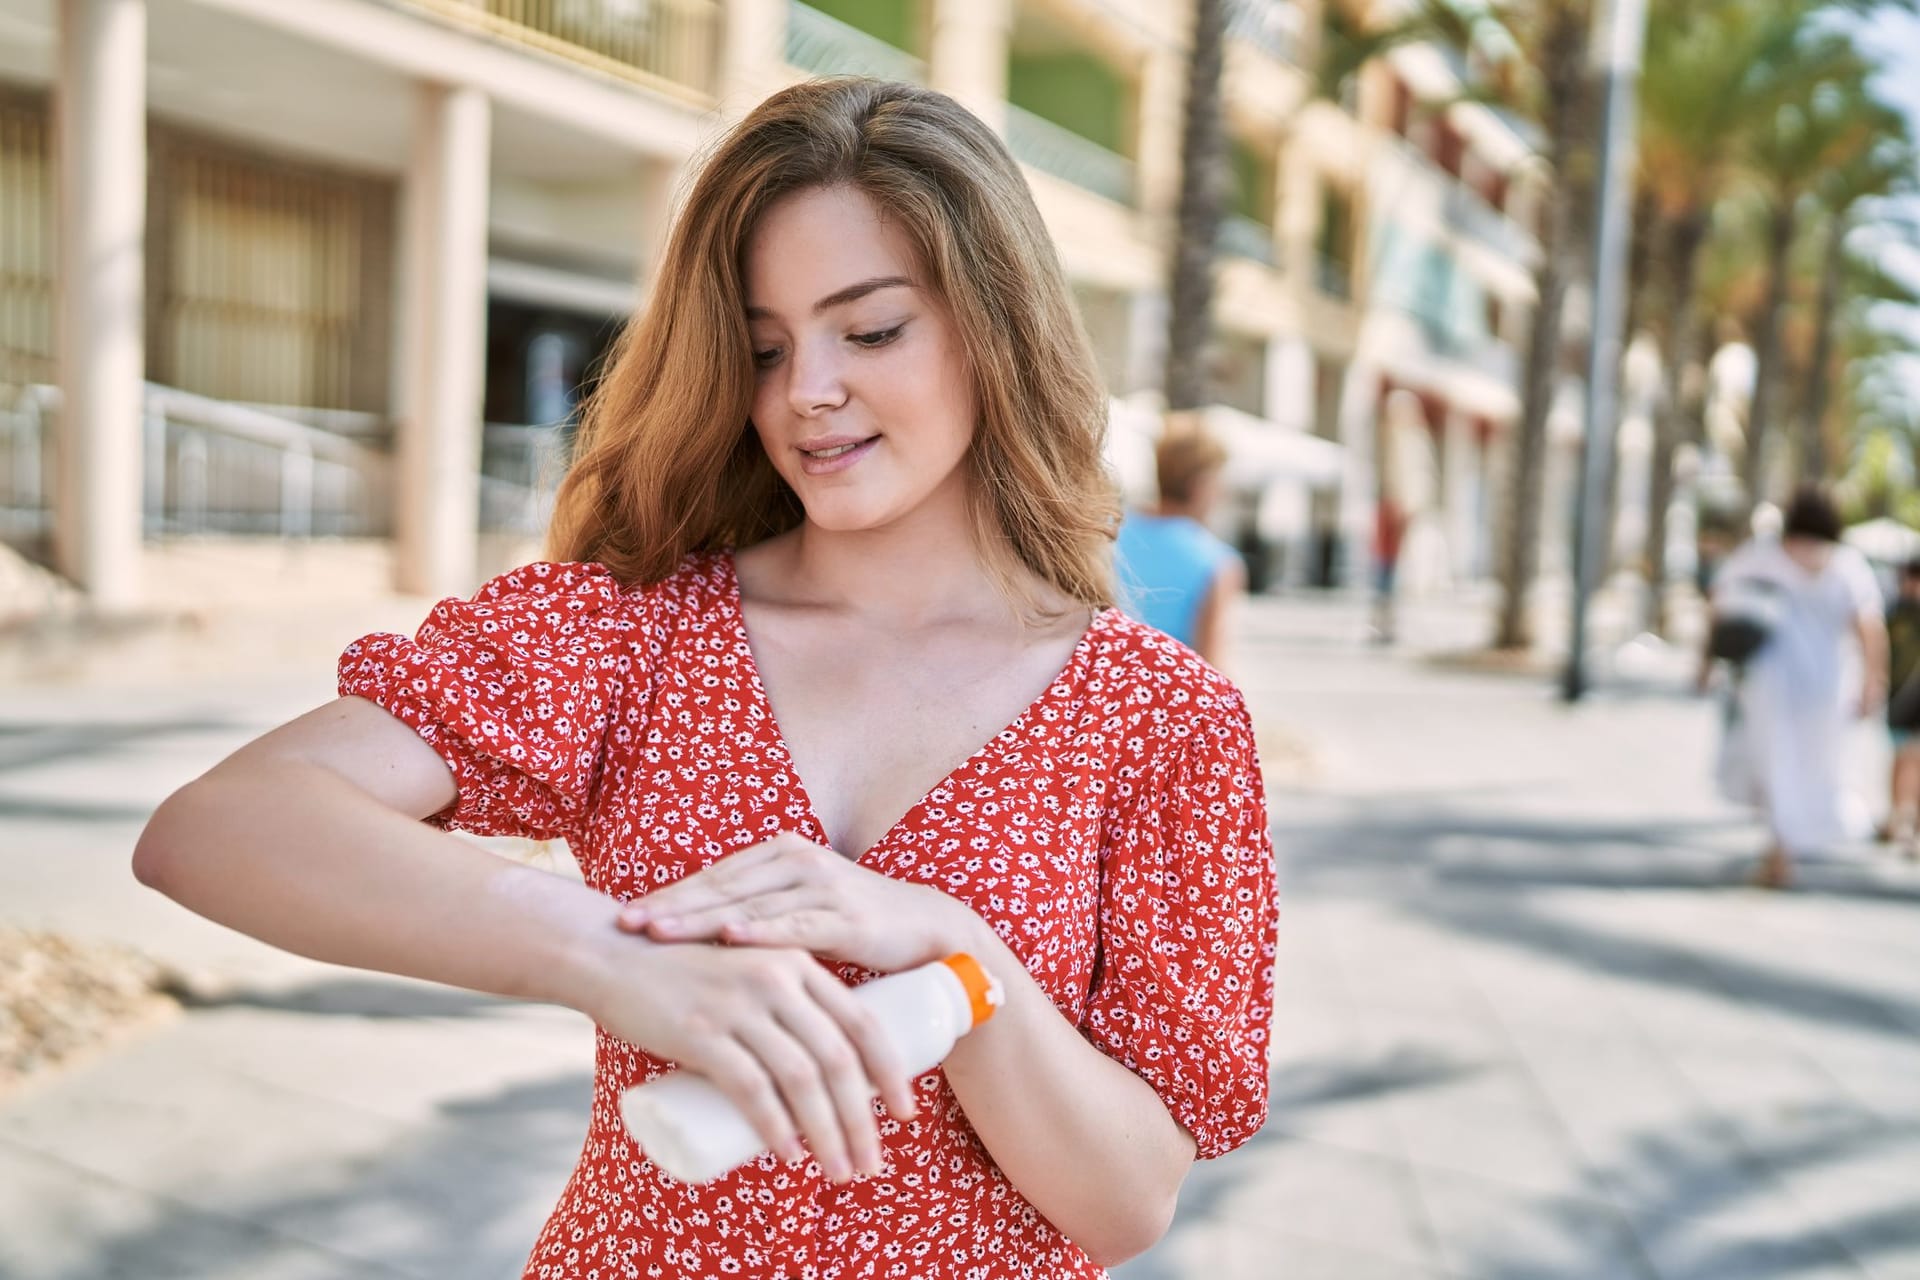
[[[1167,1226],[1194,1142],[1140,1077],[1060,1015],[991,931],[973,944],[1008,998],[947,1057],[995,1163],[1069,1240],[1112,1267]]]

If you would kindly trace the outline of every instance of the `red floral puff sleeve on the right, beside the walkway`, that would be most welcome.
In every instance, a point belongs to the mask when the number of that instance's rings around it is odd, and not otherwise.
[[[1275,875],[1246,702],[1204,699],[1188,723],[1108,848],[1081,1029],[1210,1159],[1267,1119]]]

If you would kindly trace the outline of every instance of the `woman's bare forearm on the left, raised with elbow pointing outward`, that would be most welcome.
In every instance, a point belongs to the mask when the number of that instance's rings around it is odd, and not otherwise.
[[[618,910],[298,760],[215,770],[179,791],[142,833],[134,871],[301,956],[582,1009],[588,960]]]

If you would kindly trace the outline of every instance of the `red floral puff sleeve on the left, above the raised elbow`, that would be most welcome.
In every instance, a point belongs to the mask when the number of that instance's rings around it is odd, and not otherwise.
[[[376,702],[453,770],[428,821],[476,835],[580,831],[622,695],[645,677],[639,604],[599,564],[528,564],[420,629],[340,656],[340,695]]]

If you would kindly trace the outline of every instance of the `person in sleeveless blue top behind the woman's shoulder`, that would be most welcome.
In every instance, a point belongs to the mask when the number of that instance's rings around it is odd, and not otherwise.
[[[1169,424],[1154,451],[1160,503],[1129,510],[1114,547],[1121,606],[1213,668],[1227,664],[1227,618],[1246,589],[1240,555],[1206,526],[1225,464],[1217,439]]]

